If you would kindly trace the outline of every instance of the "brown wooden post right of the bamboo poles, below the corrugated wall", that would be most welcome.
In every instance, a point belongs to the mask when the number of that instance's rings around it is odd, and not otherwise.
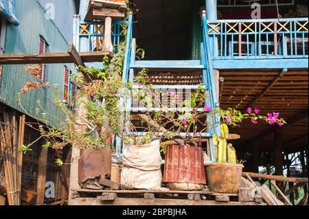
[[[47,170],[47,148],[41,149],[40,157],[38,157],[38,180],[36,193],[36,205],[44,205],[45,198],[45,183],[46,183],[46,170]]]

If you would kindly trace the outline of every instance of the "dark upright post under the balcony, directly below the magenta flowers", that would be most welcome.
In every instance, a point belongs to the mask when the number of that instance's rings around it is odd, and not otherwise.
[[[274,161],[275,161],[275,174],[277,176],[283,175],[283,159],[282,159],[282,129],[275,128],[274,132]],[[282,182],[277,181],[277,186],[282,189]]]

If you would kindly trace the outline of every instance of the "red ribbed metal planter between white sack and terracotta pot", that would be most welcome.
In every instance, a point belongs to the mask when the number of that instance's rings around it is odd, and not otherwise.
[[[168,146],[165,154],[163,182],[206,184],[201,147]]]

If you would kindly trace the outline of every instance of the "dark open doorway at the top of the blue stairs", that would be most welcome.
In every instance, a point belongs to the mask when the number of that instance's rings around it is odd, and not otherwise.
[[[133,37],[147,60],[188,60],[192,38],[192,0],[131,0]]]

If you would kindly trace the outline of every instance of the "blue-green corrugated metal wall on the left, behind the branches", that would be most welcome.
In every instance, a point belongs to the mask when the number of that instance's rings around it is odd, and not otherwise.
[[[8,23],[5,37],[5,54],[38,54],[40,35],[49,44],[50,52],[67,51],[65,38],[51,20],[45,19],[45,12],[37,0],[16,0],[16,14],[20,25],[15,27]],[[66,19],[72,19],[72,14],[67,14]],[[61,96],[63,96],[64,66],[63,64],[47,65],[46,81],[51,86],[58,84]],[[71,64],[66,66],[73,69]],[[4,65],[0,82],[0,101],[22,111],[22,108],[16,102],[16,97],[28,80],[34,81],[34,78],[25,73],[24,65]],[[52,89],[30,91],[22,95],[22,105],[27,112],[35,112],[38,107],[37,100],[41,100],[46,111],[61,119],[60,111],[52,104]],[[55,117],[49,117],[49,121],[59,124]]]

